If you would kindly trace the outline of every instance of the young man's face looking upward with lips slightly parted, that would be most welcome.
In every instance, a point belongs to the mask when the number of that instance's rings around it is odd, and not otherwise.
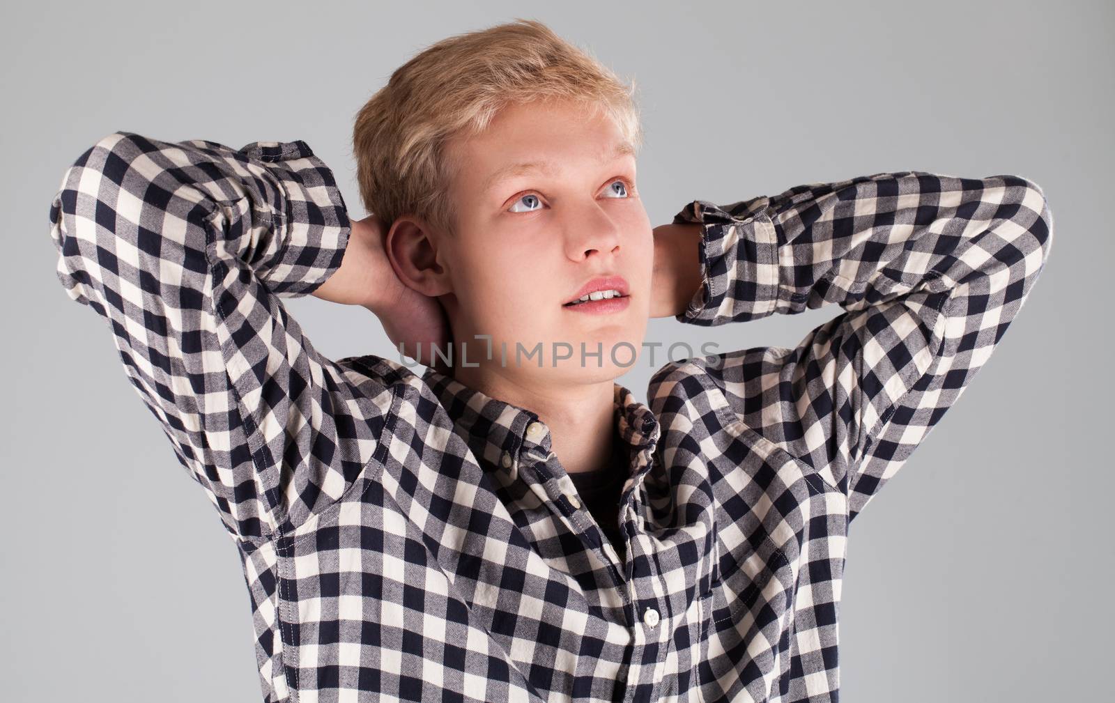
[[[445,302],[455,352],[466,343],[468,363],[547,383],[614,379],[634,363],[650,311],[653,234],[634,156],[615,124],[590,111],[552,100],[513,105],[482,135],[449,145],[462,164],[450,187],[457,231],[442,240],[438,258],[453,284]],[[542,165],[515,168],[527,163]],[[566,305],[601,276],[622,277],[627,296]],[[492,336],[491,361],[474,334]],[[558,355],[571,354],[556,368],[555,342],[569,344]],[[601,357],[582,355],[582,342]]]

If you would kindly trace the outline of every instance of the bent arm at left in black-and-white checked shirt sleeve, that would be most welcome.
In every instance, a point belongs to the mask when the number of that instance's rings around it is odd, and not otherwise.
[[[319,354],[280,300],[313,293],[349,243],[306,143],[114,133],[66,172],[50,223],[59,280],[108,320],[125,374],[234,538],[293,529],[352,484],[390,390]]]

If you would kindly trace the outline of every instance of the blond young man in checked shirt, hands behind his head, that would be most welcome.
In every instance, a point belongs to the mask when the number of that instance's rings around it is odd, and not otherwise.
[[[1050,213],[1021,177],[902,172],[652,230],[628,98],[520,21],[365,107],[372,217],[303,141],[116,133],[66,173],[58,275],[236,544],[265,701],[837,699],[849,524],[1018,314]],[[571,304],[594,287],[620,297]],[[326,359],[306,294],[467,360]],[[793,349],[666,364],[647,406],[614,382],[649,316],[824,304]]]

